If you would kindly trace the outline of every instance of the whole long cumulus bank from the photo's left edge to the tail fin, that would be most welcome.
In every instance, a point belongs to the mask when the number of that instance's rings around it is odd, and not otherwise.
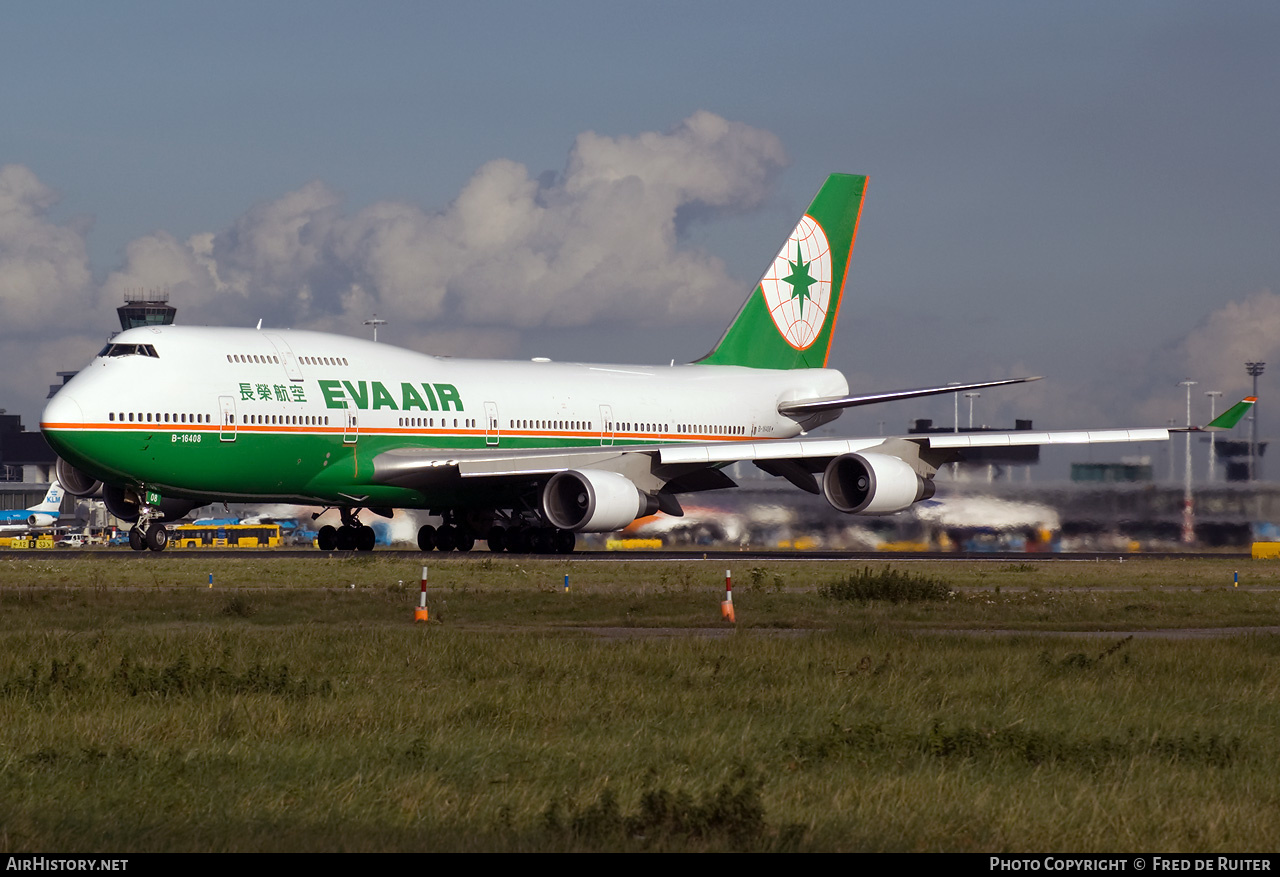
[[[758,206],[785,163],[774,134],[699,111],[667,132],[582,133],[558,174],[489,161],[440,211],[351,210],[316,181],[224,229],[140,237],[101,283],[88,265],[88,225],[52,221],[58,193],[8,165],[0,367],[29,380],[14,380],[6,402],[38,411],[54,373],[96,351],[114,309],[140,289],[168,289],[188,325],[262,319],[349,333],[376,312],[393,321],[396,343],[481,357],[515,355],[538,329],[718,321],[741,283],[684,232]]]

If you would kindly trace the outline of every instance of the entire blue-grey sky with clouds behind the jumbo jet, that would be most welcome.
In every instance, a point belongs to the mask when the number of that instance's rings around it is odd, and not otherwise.
[[[362,335],[376,312],[380,341],[434,353],[689,361],[846,172],[869,184],[829,365],[854,392],[1046,375],[984,392],[975,424],[1165,425],[1190,379],[1203,422],[1204,390],[1221,411],[1267,361],[1260,431],[1280,428],[1274,3],[5,20],[0,407],[28,426],[137,288],[188,325]],[[824,431],[915,417],[952,401]]]

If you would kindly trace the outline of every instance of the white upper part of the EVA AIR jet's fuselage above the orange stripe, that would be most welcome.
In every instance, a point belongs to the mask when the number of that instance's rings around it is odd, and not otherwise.
[[[358,411],[361,434],[398,430],[407,416],[449,429],[454,419],[458,429],[475,420],[484,431],[492,405],[503,435],[600,433],[607,406],[617,438],[786,438],[800,429],[778,415],[780,402],[847,392],[844,375],[831,369],[465,360],[301,330],[150,326],[123,332],[111,343],[146,344],[155,356],[95,358],[49,403],[45,421],[114,422],[110,415],[124,414],[129,422],[133,414],[169,422],[168,415],[206,414],[218,425],[219,398],[229,396],[241,417],[328,415],[330,424],[346,403]],[[416,398],[406,398],[404,383]],[[452,387],[457,399],[448,390],[431,398],[424,383]],[[545,422],[590,428],[522,425]]]

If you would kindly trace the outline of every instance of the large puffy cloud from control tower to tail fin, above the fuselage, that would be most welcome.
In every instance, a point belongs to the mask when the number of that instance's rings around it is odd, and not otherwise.
[[[490,161],[442,213],[380,202],[347,214],[314,182],[216,234],[133,242],[106,294],[160,286],[184,321],[239,312],[317,328],[374,311],[422,330],[696,320],[741,288],[682,245],[682,224],[759,205],[785,161],[774,134],[695,113],[666,133],[584,133],[553,178]]]

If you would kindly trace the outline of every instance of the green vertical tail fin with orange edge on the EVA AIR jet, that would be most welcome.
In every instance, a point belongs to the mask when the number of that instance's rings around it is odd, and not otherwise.
[[[756,369],[827,365],[865,188],[865,177],[827,178],[719,343],[698,362]]]

